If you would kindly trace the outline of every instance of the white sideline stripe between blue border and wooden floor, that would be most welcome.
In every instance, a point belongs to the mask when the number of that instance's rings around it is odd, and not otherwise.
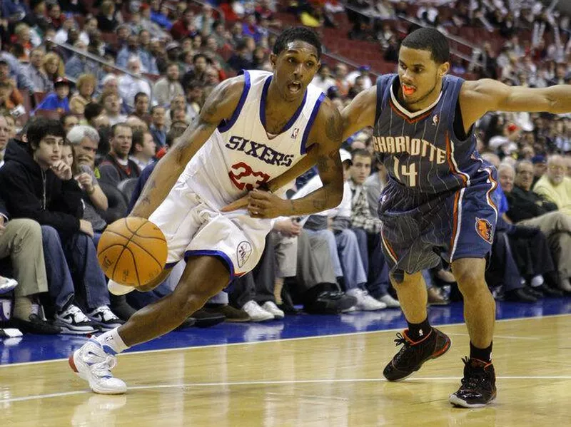
[[[501,319],[497,320],[496,323],[503,322],[503,321],[516,321],[516,320],[537,320],[537,319],[549,319],[552,317],[571,317],[571,314],[547,314],[546,316],[541,317],[516,317],[514,319]],[[449,323],[449,324],[435,324],[435,327],[444,327],[444,326],[460,326],[465,324],[462,323]],[[141,350],[141,351],[129,351],[128,353],[121,353],[121,357],[128,356],[130,354],[146,354],[146,353],[158,353],[159,351],[187,351],[187,350],[194,350],[194,349],[212,349],[216,347],[227,347],[227,346],[243,346],[243,345],[251,345],[251,344],[262,344],[266,342],[276,342],[276,341],[300,341],[303,339],[320,339],[320,338],[332,338],[338,336],[351,336],[351,335],[365,335],[365,334],[378,334],[379,332],[395,332],[395,331],[402,331],[403,328],[393,328],[393,329],[379,329],[378,331],[361,331],[361,332],[345,332],[343,334],[331,334],[331,335],[317,335],[317,336],[298,336],[295,338],[280,338],[280,339],[267,339],[264,341],[251,341],[251,342],[233,342],[229,344],[208,344],[206,346],[188,346],[188,347],[177,347],[175,349],[155,349],[155,350]],[[87,341],[87,340],[86,340]],[[61,362],[66,361],[68,358],[62,359],[51,359],[51,360],[40,360],[40,361],[26,361],[16,364],[4,364],[0,365],[1,368],[8,368],[11,366],[26,366],[26,365],[36,365],[36,364],[47,364],[53,362]]]

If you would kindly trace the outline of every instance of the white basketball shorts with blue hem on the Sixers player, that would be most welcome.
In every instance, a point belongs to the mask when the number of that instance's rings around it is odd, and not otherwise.
[[[272,228],[271,220],[252,218],[246,210],[220,212],[185,182],[176,182],[148,220],[166,237],[166,267],[211,255],[228,264],[231,280],[256,267]]]

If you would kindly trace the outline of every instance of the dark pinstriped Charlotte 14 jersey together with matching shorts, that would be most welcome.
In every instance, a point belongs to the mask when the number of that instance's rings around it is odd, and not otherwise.
[[[438,99],[410,113],[398,102],[398,75],[378,78],[373,145],[388,172],[378,214],[395,279],[464,257],[486,257],[497,220],[495,169],[476,151],[472,130],[455,134],[461,78],[445,76]],[[458,115],[458,117],[456,117]]]

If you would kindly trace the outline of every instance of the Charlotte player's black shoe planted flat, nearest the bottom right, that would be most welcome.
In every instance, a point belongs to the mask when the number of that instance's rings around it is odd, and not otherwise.
[[[464,378],[460,389],[450,395],[450,403],[463,408],[481,408],[495,399],[494,365],[477,359],[462,359]]]

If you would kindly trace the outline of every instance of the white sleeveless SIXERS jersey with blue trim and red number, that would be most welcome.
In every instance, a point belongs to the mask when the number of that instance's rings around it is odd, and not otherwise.
[[[244,72],[244,90],[232,117],[214,130],[178,178],[213,207],[223,207],[276,178],[305,155],[325,94],[309,85],[282,133],[268,135],[264,125],[272,77],[266,71]]]

